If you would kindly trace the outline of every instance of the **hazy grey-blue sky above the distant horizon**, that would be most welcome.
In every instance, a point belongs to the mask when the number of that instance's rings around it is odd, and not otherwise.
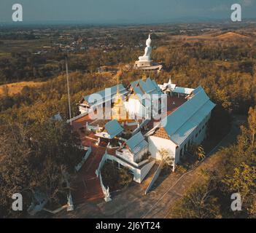
[[[0,23],[12,22],[12,4],[22,4],[24,23],[171,23],[230,19],[232,4],[242,18],[256,15],[256,0],[0,0]]]

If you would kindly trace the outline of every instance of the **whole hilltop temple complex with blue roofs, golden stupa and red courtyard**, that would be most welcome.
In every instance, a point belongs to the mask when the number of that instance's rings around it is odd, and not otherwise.
[[[96,174],[100,182],[95,186],[102,189],[108,201],[110,192],[101,178],[106,161],[115,162],[119,168],[127,167],[133,181],[141,183],[152,167],[160,169],[163,160],[160,151],[164,149],[174,161],[174,170],[192,145],[199,146],[206,139],[215,106],[201,86],[178,87],[171,79],[157,84],[145,76],[128,87],[117,84],[93,94],[82,98],[81,114],[69,122],[79,134],[82,148],[93,151],[89,155],[93,165],[89,164],[87,169]],[[154,95],[157,98],[152,98]],[[110,109],[106,110],[107,106]],[[91,119],[90,114],[95,111],[104,114]],[[91,170],[95,167],[97,170]]]

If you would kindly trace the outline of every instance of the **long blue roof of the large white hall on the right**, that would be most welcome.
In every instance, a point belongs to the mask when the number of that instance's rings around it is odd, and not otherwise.
[[[163,119],[162,125],[171,141],[180,145],[214,106],[203,88],[199,88],[193,98]]]

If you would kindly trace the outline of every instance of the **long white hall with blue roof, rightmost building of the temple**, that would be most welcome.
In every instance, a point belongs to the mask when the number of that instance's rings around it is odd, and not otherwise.
[[[180,92],[177,92],[178,90]],[[168,114],[155,129],[147,134],[152,157],[161,159],[158,150],[166,149],[170,157],[174,158],[175,164],[180,162],[180,158],[192,144],[200,145],[206,138],[208,122],[215,106],[202,87],[191,92],[185,88],[178,90],[171,94],[178,93],[181,96],[179,98],[187,97],[185,103]]]

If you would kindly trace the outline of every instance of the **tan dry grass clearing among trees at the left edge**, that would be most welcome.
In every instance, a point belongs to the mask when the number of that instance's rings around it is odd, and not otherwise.
[[[0,86],[0,97],[4,95],[5,89],[7,87],[9,95],[15,95],[23,90],[23,87],[40,87],[45,82],[15,82],[11,84],[4,84]]]

